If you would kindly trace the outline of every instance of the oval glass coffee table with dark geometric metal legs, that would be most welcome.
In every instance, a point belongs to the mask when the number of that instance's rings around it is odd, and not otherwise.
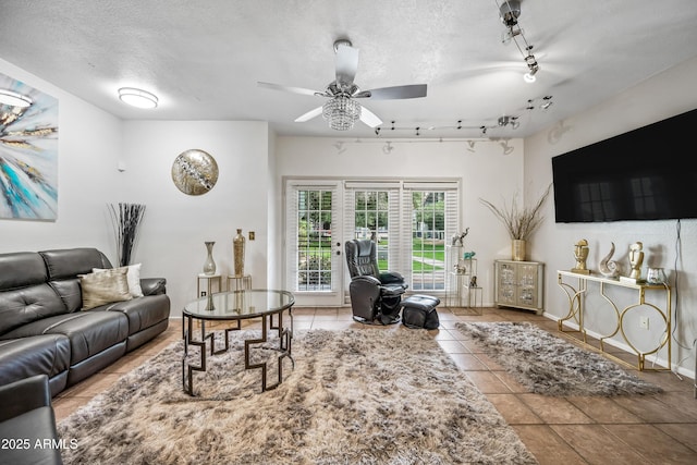
[[[206,371],[206,344],[210,343],[210,355],[222,354],[230,348],[229,334],[242,329],[242,321],[260,318],[261,336],[255,332],[250,339],[244,340],[244,368],[261,369],[261,392],[278,387],[283,382],[283,358],[290,358],[295,365],[291,347],[293,341],[292,307],[295,297],[288,291],[276,290],[241,290],[210,294],[186,304],[183,310],[182,336],[184,339],[184,357],[182,358],[182,384],[184,391],[194,395],[194,371]],[[285,314],[285,316],[284,316]],[[194,338],[194,320],[200,326],[200,338]],[[216,331],[206,333],[207,321],[232,321],[235,325],[224,329],[224,345],[216,350]],[[250,346],[268,341],[268,332],[278,331],[278,381],[267,384],[267,363],[253,364],[249,359]],[[198,332],[198,331],[196,331]],[[222,331],[221,331],[222,332]],[[198,365],[187,363],[188,347],[199,347],[200,362]]]

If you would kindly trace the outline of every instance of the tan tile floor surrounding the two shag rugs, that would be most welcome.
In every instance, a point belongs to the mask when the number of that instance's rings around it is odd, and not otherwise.
[[[295,329],[365,328],[350,308],[294,308]],[[485,308],[482,315],[439,307],[441,327],[429,331],[464,374],[517,431],[540,464],[697,464],[697,400],[694,381],[670,371],[633,370],[660,384],[651,396],[549,397],[531,394],[458,331],[457,321],[531,321],[555,334],[557,322],[528,311]],[[411,331],[402,325],[389,331]],[[58,420],[70,415],[121,375],[181,338],[173,319],[160,336],[53,399]],[[621,351],[615,355],[634,362]]]

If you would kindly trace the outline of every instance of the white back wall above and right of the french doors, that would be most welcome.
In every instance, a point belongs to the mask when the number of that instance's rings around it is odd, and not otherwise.
[[[338,146],[338,142],[343,142],[343,145]],[[498,142],[477,142],[472,152],[467,150],[466,142],[437,139],[391,140],[394,149],[386,154],[387,142],[387,138],[356,143],[354,139],[329,137],[279,137],[274,183],[281,185],[284,176],[460,180],[461,230],[469,227],[466,246],[477,254],[482,299],[485,305],[491,305],[493,260],[511,258],[511,241],[503,225],[478,198],[499,204],[515,192],[523,195],[523,140],[509,142],[514,147],[510,155],[504,155]],[[277,218],[279,224],[284,222],[283,211],[281,209]],[[279,236],[278,240],[281,238]]]

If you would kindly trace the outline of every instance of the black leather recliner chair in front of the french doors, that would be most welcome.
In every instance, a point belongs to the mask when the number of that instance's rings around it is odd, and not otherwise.
[[[404,277],[396,271],[379,271],[377,245],[370,240],[346,241],[345,249],[353,319],[364,323],[399,322],[402,294],[408,287]]]

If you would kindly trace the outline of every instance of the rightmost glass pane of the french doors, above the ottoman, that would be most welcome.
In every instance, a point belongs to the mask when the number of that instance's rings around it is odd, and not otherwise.
[[[445,289],[445,193],[412,193],[412,289]]]

